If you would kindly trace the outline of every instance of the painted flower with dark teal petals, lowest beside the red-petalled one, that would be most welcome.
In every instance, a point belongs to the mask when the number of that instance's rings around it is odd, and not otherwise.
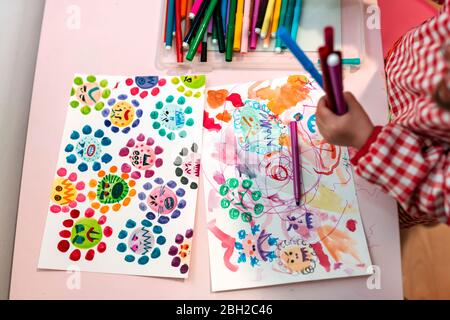
[[[117,245],[117,251],[125,253],[126,262],[137,262],[146,265],[150,259],[161,256],[160,246],[166,243],[163,228],[155,221],[144,219],[140,225],[130,219],[125,229],[119,232],[122,241]]]

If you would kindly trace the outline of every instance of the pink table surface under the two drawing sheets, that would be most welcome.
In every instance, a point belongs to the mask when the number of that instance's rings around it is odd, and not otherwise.
[[[374,0],[365,0],[374,3]],[[192,271],[186,281],[82,273],[70,290],[65,271],[37,269],[51,185],[59,151],[72,76],[162,74],[155,54],[162,0],[47,0],[29,118],[17,221],[10,297],[12,299],[400,299],[402,277],[396,205],[357,179],[358,197],[373,263],[381,270],[381,289],[369,290],[366,278],[210,292],[205,207],[199,196]],[[81,28],[67,28],[67,10],[81,9]],[[372,119],[387,119],[379,30],[366,30],[367,57],[346,79]],[[208,85],[274,78],[292,71],[224,71],[208,74]],[[202,190],[200,190],[202,194]]]

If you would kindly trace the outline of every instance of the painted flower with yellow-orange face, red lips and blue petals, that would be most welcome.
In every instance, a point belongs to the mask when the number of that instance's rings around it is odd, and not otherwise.
[[[117,133],[128,133],[132,128],[140,124],[143,111],[138,100],[129,98],[126,94],[120,94],[116,98],[108,100],[108,107],[103,109],[105,126]]]

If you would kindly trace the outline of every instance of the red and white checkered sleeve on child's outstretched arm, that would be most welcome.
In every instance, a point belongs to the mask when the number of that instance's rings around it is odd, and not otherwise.
[[[412,218],[450,224],[449,149],[388,124],[374,130],[352,163],[358,175],[393,196]]]

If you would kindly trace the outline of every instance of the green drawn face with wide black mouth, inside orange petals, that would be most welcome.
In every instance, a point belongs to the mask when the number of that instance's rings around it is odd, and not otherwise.
[[[118,203],[128,194],[128,184],[114,174],[102,178],[97,186],[97,199],[100,203]]]

